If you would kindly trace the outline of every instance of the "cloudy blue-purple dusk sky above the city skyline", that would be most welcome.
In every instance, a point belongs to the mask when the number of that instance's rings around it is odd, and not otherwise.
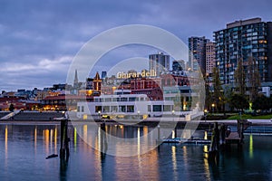
[[[271,7],[271,0],[0,0],[0,90],[65,83],[83,44],[116,26],[153,25],[187,43],[189,36],[212,39],[214,31],[235,20],[272,21]],[[104,62],[116,61],[116,52],[122,58],[154,53],[124,47],[109,53]]]

